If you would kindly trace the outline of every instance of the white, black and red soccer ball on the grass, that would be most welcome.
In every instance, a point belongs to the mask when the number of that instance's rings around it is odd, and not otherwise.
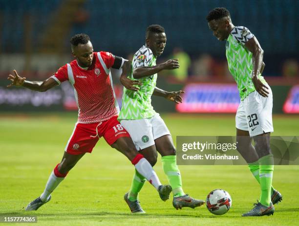
[[[206,205],[211,213],[222,215],[232,207],[232,198],[227,191],[216,189],[208,194]]]

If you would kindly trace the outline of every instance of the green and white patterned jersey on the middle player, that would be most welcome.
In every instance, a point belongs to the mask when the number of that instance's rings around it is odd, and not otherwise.
[[[142,46],[135,54],[132,60],[132,68],[155,66],[156,57],[147,46]],[[133,78],[133,71],[128,76]],[[156,86],[157,74],[137,79],[141,82],[139,91],[131,91],[124,87],[122,99],[122,108],[118,119],[143,119],[151,118],[156,112],[151,106],[151,95]]]

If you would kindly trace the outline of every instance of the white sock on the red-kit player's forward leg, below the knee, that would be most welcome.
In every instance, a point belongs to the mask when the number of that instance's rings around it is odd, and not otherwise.
[[[153,187],[155,187],[158,190],[159,186],[162,184],[156,172],[154,171],[154,169],[152,169],[152,166],[149,164],[149,161],[145,158],[142,158],[134,166],[137,169],[137,171],[141,175],[143,175]]]

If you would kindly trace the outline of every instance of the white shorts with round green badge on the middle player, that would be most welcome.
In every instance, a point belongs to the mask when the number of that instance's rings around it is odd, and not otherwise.
[[[155,139],[170,135],[165,122],[156,114],[152,118],[121,120],[121,125],[130,134],[138,151],[155,144]]]

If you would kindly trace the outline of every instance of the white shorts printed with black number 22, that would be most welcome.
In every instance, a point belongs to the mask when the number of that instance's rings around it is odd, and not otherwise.
[[[271,88],[269,86],[268,88],[268,97],[263,97],[255,91],[240,102],[235,115],[237,129],[249,131],[250,136],[273,132],[273,96]]]

